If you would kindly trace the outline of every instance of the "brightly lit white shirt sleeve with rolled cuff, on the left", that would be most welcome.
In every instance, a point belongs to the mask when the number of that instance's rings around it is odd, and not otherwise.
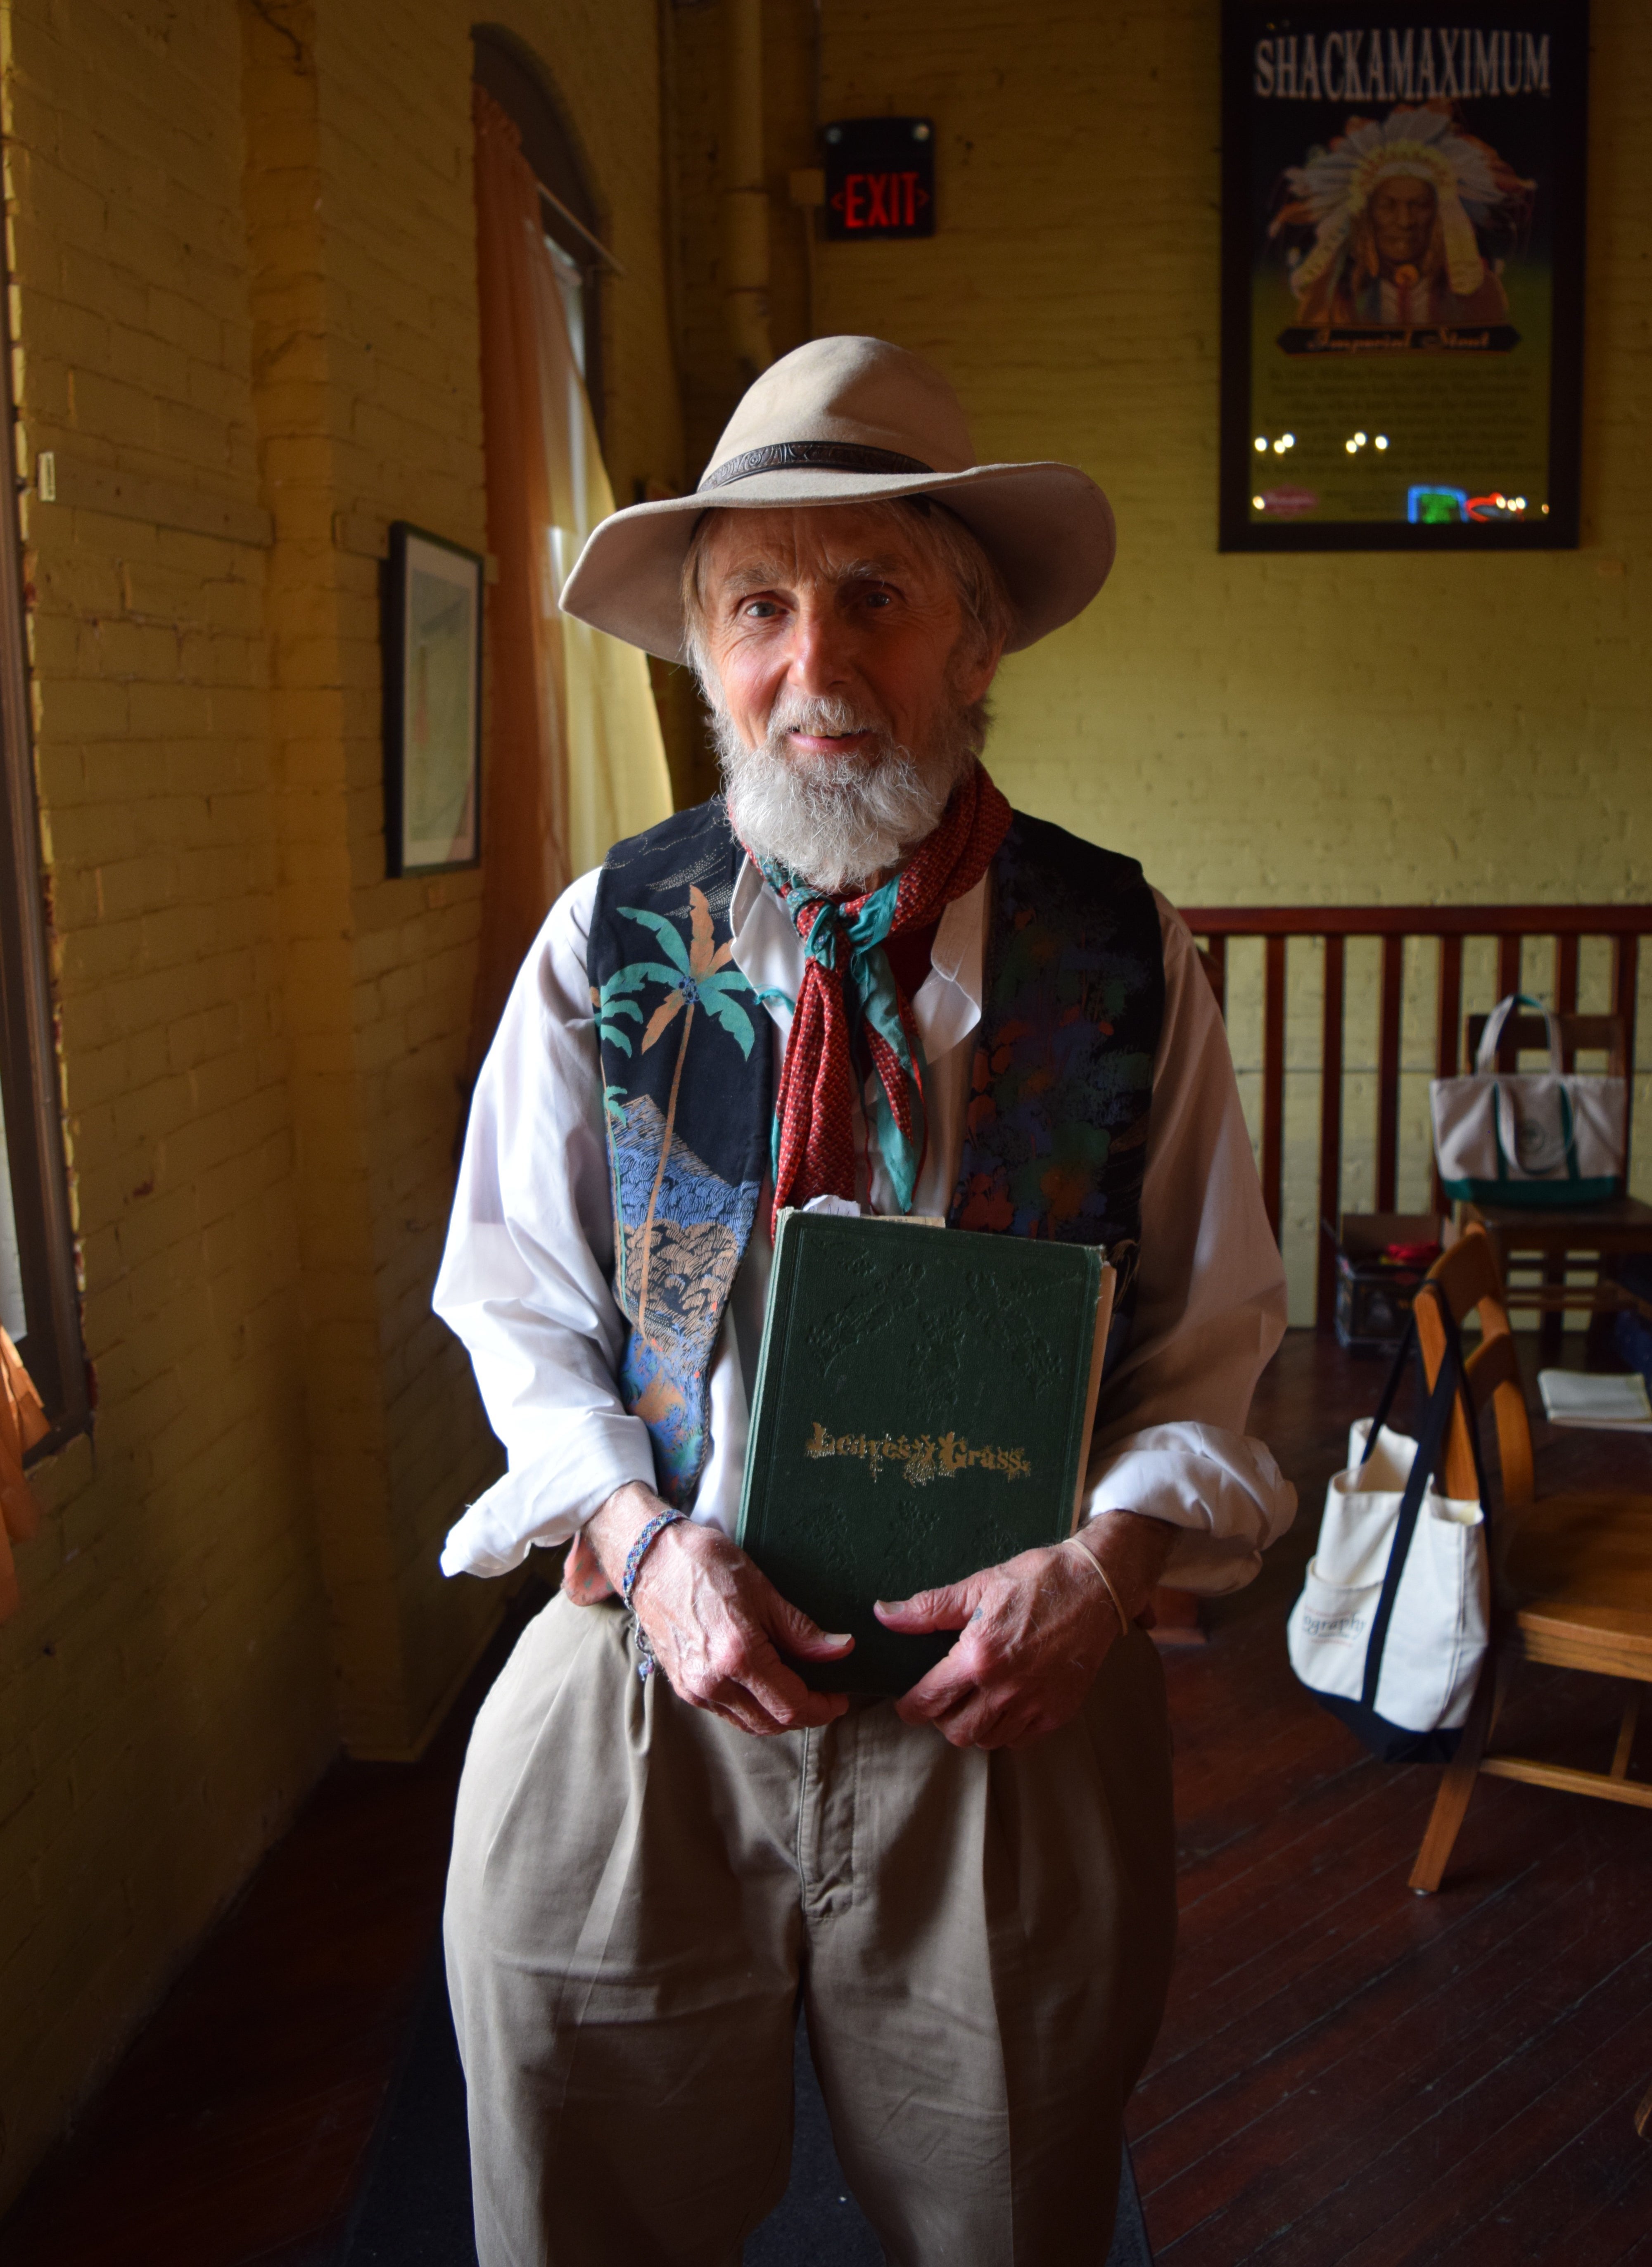
[[[471,1099],[433,1304],[469,1349],[510,1471],[451,1530],[444,1573],[505,1573],[616,1487],[655,1480],[614,1383],[625,1317],[585,973],[594,898],[589,873],[551,907]]]

